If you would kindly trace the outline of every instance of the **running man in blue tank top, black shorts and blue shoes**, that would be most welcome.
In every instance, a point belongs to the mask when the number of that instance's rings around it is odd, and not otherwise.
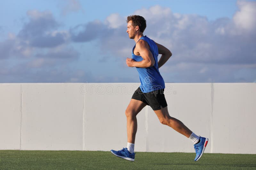
[[[195,161],[201,158],[208,143],[208,138],[197,136],[182,122],[171,117],[167,110],[164,97],[164,80],[158,68],[172,56],[172,53],[164,46],[157,44],[143,35],[146,28],[146,20],[138,15],[127,17],[127,33],[130,39],[136,42],[132,49],[132,58],[126,59],[128,67],[136,67],[140,76],[140,87],[134,92],[132,99],[125,110],[127,118],[127,147],[119,151],[111,150],[117,157],[134,161],[134,143],[137,132],[136,115],[146,105],[149,105],[162,124],[172,127],[194,143],[196,151]],[[157,60],[158,54],[162,54]],[[158,62],[157,62],[158,61]]]

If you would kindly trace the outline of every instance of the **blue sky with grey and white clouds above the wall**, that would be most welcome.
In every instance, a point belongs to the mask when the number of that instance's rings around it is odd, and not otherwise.
[[[256,1],[9,0],[0,14],[0,82],[139,82],[133,14],[173,53],[165,82],[256,81]]]

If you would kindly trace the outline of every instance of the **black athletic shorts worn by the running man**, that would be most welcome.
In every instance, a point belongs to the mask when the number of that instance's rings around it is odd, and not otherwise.
[[[140,87],[135,90],[132,99],[140,100],[149,105],[153,110],[160,110],[161,106],[166,107],[167,103],[164,97],[164,89],[143,93]]]

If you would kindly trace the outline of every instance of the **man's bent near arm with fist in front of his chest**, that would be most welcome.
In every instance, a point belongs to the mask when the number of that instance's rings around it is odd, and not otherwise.
[[[136,44],[136,53],[139,53],[139,55],[143,58],[141,61],[134,61],[131,58],[126,59],[126,64],[128,67],[141,67],[141,68],[147,68],[152,67],[155,64],[154,57],[149,50],[148,43],[144,40],[140,40]]]

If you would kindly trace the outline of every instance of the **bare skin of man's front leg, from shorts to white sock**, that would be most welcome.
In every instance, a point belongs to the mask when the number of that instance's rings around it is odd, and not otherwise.
[[[136,116],[146,105],[146,103],[143,103],[140,100],[131,99],[127,109],[125,110],[127,119],[127,142],[129,143],[135,143],[135,136],[137,132]]]

